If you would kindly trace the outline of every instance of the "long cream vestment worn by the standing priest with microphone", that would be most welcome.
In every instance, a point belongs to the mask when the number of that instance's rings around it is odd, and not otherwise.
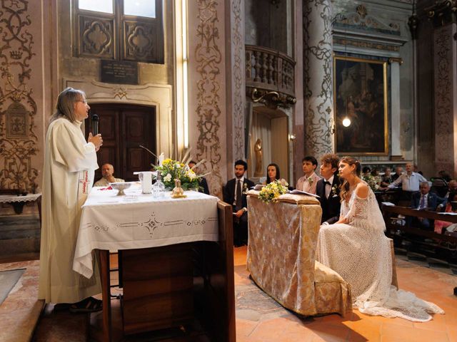
[[[101,293],[96,262],[91,279],[73,271],[81,206],[98,168],[95,146],[86,142],[81,122],[59,118],[49,125],[44,152],[38,294],[46,303],[75,303]]]

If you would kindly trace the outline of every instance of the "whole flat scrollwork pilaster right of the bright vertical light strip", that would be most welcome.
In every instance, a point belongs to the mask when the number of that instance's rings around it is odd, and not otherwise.
[[[212,195],[222,197],[226,177],[225,3],[188,1],[189,140]],[[196,148],[195,148],[196,147]],[[225,168],[224,168],[225,169]]]

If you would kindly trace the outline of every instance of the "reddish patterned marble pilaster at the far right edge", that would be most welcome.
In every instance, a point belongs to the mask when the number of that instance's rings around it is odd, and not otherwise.
[[[457,26],[435,28],[435,170],[457,175]]]

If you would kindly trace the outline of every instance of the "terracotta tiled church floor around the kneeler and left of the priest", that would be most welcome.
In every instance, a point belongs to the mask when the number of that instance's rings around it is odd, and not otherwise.
[[[313,341],[457,341],[457,276],[397,258],[398,283],[422,299],[441,306],[445,315],[433,321],[413,323],[401,318],[366,316],[353,311],[299,318],[266,296],[248,278],[246,247],[235,249],[236,337],[238,342]],[[40,304],[36,302],[38,261],[0,264],[0,269],[26,267],[22,287],[0,306],[0,341],[29,341]],[[249,298],[248,298],[249,297]],[[251,305],[261,301],[261,305]],[[88,320],[84,316],[45,311],[34,341],[86,341]],[[144,341],[147,341],[144,340]]]

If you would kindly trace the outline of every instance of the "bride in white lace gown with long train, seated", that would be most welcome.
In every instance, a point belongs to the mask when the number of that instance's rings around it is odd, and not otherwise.
[[[391,285],[392,257],[390,240],[384,234],[386,224],[374,193],[361,180],[360,172],[358,160],[341,159],[339,175],[344,182],[340,219],[321,226],[318,261],[351,284],[353,307],[363,314],[416,322],[431,320],[430,314],[444,314],[435,304]]]

